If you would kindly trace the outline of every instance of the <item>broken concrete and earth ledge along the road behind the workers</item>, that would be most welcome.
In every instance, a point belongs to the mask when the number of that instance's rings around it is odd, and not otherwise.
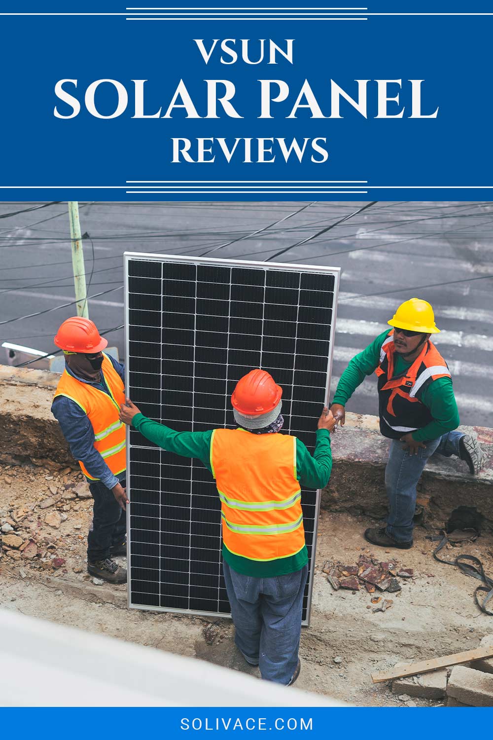
[[[0,366],[0,460],[50,460],[75,465],[58,423],[50,413],[59,375],[42,370]],[[313,423],[315,428],[315,423]],[[436,455],[418,486],[430,524],[443,525],[460,504],[477,506],[493,523],[493,430],[461,427],[477,435],[487,463],[477,476],[455,457]],[[378,418],[347,414],[347,423],[332,435],[333,474],[322,493],[322,507],[379,518],[385,515],[384,468],[389,440],[378,431]]]

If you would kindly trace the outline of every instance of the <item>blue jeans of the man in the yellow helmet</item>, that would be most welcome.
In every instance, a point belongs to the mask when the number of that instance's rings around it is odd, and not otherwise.
[[[392,440],[389,460],[385,468],[385,488],[389,497],[389,516],[387,517],[387,534],[398,542],[409,542],[416,507],[416,485],[424,470],[428,458],[434,452],[450,457],[459,454],[461,431],[449,431],[438,437],[438,440],[425,442],[426,448],[418,448],[418,454],[410,455],[409,449],[403,450],[404,443]]]

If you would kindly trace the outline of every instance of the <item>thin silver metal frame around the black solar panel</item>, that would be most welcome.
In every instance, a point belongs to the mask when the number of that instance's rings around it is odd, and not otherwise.
[[[282,272],[307,272],[307,273],[324,273],[327,272],[329,275],[334,277],[334,288],[333,288],[333,304],[332,304],[332,320],[330,325],[330,351],[327,357],[327,381],[325,384],[325,403],[329,399],[330,392],[330,377],[332,373],[333,363],[333,349],[334,339],[336,334],[336,314],[337,314],[337,301],[339,295],[339,279],[341,268],[340,267],[327,267],[323,265],[300,265],[296,263],[281,263],[281,262],[258,262],[251,260],[234,260],[234,259],[218,259],[218,258],[194,258],[194,257],[183,257],[177,255],[162,255],[162,254],[150,254],[147,252],[124,252],[124,313],[125,313],[125,387],[129,388],[129,261],[140,260],[144,262],[173,262],[173,263],[193,263],[195,265],[216,265],[216,266],[231,266],[231,267],[249,267],[249,268],[262,268],[265,270],[279,270]],[[313,429],[315,432],[315,428]],[[129,440],[129,427],[126,428],[126,468],[130,470],[130,440]],[[128,532],[128,553],[129,556],[132,551],[131,542],[131,529],[130,529],[130,506],[132,506],[132,491],[130,488],[130,477],[127,477],[127,493],[129,494],[130,505],[126,508],[126,519],[127,519],[127,532]],[[316,491],[316,505],[315,515],[313,523],[313,544],[312,544],[312,556],[310,559],[310,571],[308,573],[308,594],[307,594],[307,618],[302,621],[302,625],[307,627],[310,625],[310,613],[311,613],[311,602],[313,594],[313,573],[315,568],[315,554],[316,554],[316,536],[318,519],[320,513],[320,499],[321,491]],[[214,611],[202,611],[194,609],[180,609],[180,608],[169,608],[152,605],[138,605],[132,604],[132,585],[131,585],[131,571],[130,571],[130,559],[129,559],[129,579],[128,579],[128,607],[130,609],[139,610],[150,610],[158,612],[169,612],[169,613],[180,613],[189,614],[191,616],[210,616],[210,617],[222,617],[224,619],[231,619],[231,614],[214,612]]]

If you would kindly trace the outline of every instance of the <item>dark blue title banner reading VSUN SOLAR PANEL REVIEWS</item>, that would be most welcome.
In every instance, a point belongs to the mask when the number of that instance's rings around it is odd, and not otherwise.
[[[148,5],[4,2],[4,200],[489,198],[491,3]]]

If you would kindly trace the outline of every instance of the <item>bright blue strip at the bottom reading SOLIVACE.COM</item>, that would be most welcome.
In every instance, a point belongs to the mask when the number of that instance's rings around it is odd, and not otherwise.
[[[403,707],[404,708],[404,707]],[[411,715],[409,715],[411,712]],[[417,733],[427,739],[445,733],[470,732],[470,713],[458,710],[432,711],[426,708],[327,708],[320,707],[166,707],[166,708],[56,708],[1,710],[5,737],[21,726],[25,734],[38,740],[86,740],[89,733],[98,737],[146,737],[188,740],[228,736],[269,738],[307,738],[327,740],[341,737],[359,740],[362,733],[397,732],[400,740],[415,740]],[[477,709],[475,721],[488,723],[492,710]],[[389,724],[384,724],[384,723]],[[378,723],[378,724],[375,724]],[[421,724],[423,723],[423,724]],[[244,734],[245,733],[245,734]]]

